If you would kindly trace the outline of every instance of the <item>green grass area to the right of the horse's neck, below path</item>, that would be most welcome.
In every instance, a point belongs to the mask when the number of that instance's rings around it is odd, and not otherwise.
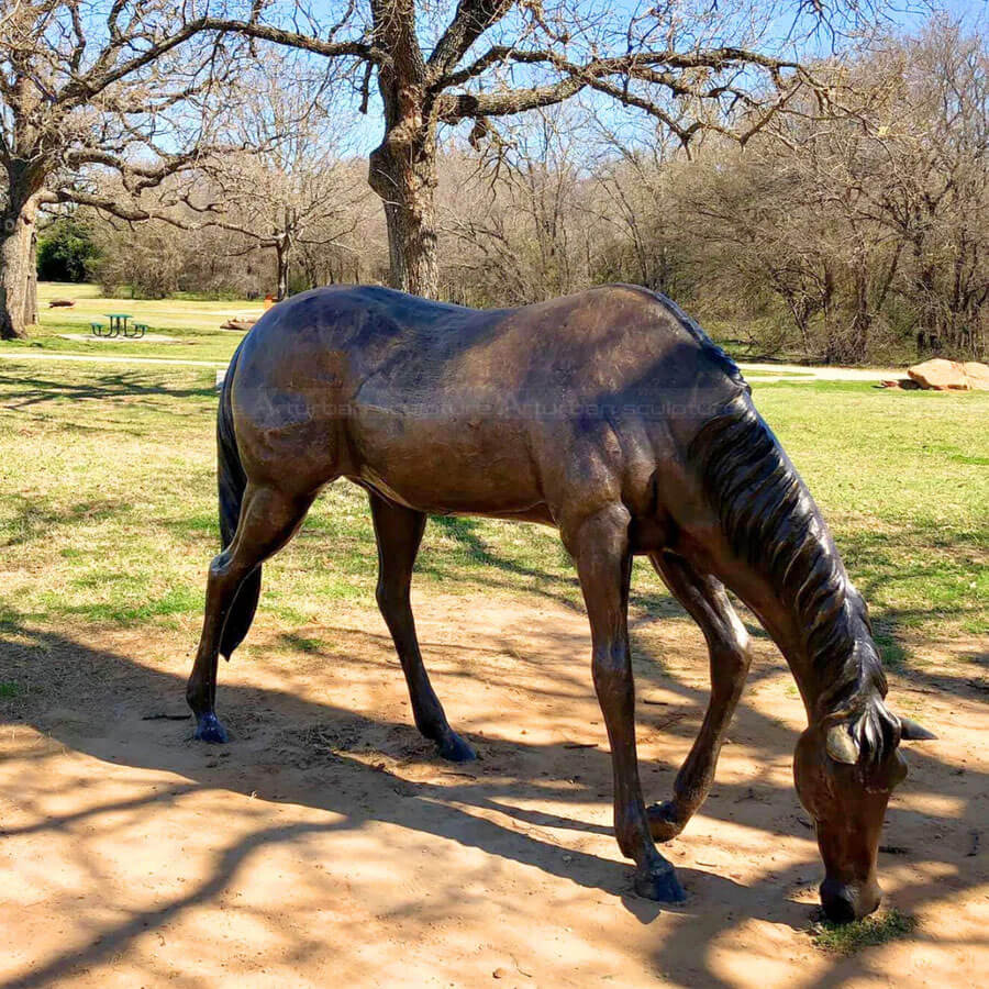
[[[886,658],[908,631],[989,632],[989,395],[757,388],[865,594]]]

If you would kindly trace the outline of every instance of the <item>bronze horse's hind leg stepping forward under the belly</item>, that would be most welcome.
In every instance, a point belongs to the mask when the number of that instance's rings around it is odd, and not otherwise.
[[[423,666],[415,634],[410,588],[412,567],[425,531],[426,516],[422,512],[386,501],[374,492],[370,494],[370,507],[378,541],[378,607],[391,633],[409,685],[415,726],[426,738],[436,743],[444,759],[464,763],[477,758],[474,749],[446,721],[443,705],[433,691],[430,676]]]

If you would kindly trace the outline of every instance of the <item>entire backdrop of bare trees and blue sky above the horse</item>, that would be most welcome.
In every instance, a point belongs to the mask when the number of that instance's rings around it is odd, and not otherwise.
[[[330,26],[179,7],[0,20],[8,335],[33,320],[36,252],[42,278],[108,293],[378,281],[500,307],[630,281],[751,355],[986,353],[978,26],[859,4],[756,3],[744,25],[703,3],[381,0]],[[779,41],[794,7],[800,57]]]

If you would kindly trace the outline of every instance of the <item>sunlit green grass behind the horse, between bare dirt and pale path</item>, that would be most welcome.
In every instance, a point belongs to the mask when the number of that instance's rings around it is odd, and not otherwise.
[[[9,353],[9,352],[8,352]],[[989,630],[989,395],[859,384],[757,385],[756,402],[832,523],[887,662]],[[210,369],[0,362],[0,614],[80,626],[176,625],[195,635],[219,542]],[[334,601],[374,601],[363,492],[333,485],[265,568],[262,610],[286,632]],[[431,522],[416,587],[580,600],[551,530]],[[668,611],[636,562],[633,605]],[[319,643],[298,643],[319,649]]]

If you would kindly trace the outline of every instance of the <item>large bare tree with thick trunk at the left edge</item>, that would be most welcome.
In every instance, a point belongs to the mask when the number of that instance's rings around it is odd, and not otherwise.
[[[140,192],[195,157],[197,127],[181,134],[171,111],[188,113],[211,91],[226,53],[215,35],[200,34],[204,18],[189,9],[182,0],[18,0],[0,9],[0,338],[23,335],[31,316],[43,202],[125,213],[78,184],[80,174],[112,169],[122,188]],[[151,152],[143,164],[142,146]]]

